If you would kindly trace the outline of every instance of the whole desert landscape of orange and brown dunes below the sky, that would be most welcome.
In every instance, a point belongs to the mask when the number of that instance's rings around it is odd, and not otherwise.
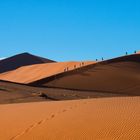
[[[0,66],[0,140],[140,139],[140,54],[81,64],[23,53]]]

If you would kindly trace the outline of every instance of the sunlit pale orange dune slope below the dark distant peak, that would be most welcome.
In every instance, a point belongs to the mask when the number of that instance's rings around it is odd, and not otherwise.
[[[36,64],[30,66],[24,66],[14,71],[0,74],[1,80],[12,81],[17,83],[31,83],[42,78],[52,76],[54,74],[63,73],[64,69],[68,67],[68,70],[73,70],[78,67],[86,66],[95,63],[94,61],[83,62],[59,62],[59,63],[47,63]]]

